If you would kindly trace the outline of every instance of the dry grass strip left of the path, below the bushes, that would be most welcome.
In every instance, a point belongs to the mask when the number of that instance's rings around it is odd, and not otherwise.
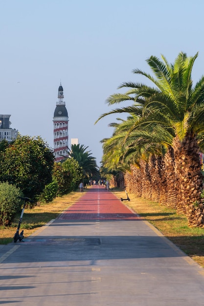
[[[72,192],[63,197],[57,197],[50,203],[43,203],[40,206],[35,206],[33,209],[25,209],[20,230],[24,231],[24,237],[30,236],[39,227],[42,227],[52,219],[56,219],[68,207],[73,205],[82,193]],[[14,219],[12,226],[6,228],[0,227],[0,244],[7,244],[13,241],[13,236],[16,233],[19,224],[19,213]]]

